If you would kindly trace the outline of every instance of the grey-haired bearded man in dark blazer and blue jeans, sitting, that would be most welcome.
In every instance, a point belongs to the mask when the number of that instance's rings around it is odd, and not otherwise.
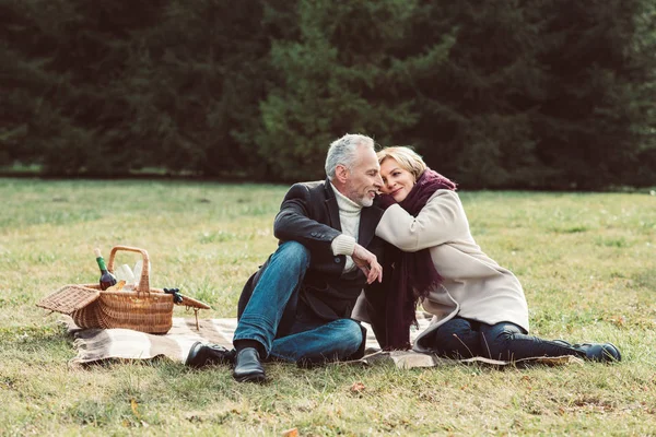
[[[373,205],[383,185],[379,169],[374,141],[347,134],[330,144],[327,180],[288,191],[273,225],[278,250],[239,298],[237,381],[263,381],[267,358],[313,364],[363,355],[363,328],[350,317],[362,290],[374,293],[367,284],[383,277],[384,243],[374,235],[383,210]],[[232,358],[221,354],[195,344],[187,364]]]

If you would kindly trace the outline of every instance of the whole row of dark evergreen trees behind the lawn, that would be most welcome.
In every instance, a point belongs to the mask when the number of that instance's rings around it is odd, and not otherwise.
[[[648,0],[0,0],[0,165],[323,177],[345,132],[466,187],[656,180]]]

